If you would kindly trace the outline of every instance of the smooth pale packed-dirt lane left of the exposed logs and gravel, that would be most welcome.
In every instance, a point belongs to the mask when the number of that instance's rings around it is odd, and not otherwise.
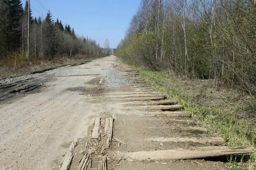
[[[59,169],[69,144],[87,134],[98,106],[88,94],[113,57],[37,74],[44,86],[0,103],[0,167]],[[96,80],[96,81],[95,81]],[[84,93],[82,93],[84,92]]]

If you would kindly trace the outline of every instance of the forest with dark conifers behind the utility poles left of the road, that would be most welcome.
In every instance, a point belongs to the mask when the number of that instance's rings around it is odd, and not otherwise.
[[[96,40],[78,36],[69,24],[58,18],[54,21],[50,11],[44,18],[33,17],[28,1],[23,8],[21,0],[0,0],[0,16],[0,65],[15,67],[26,61],[110,52],[108,40],[102,48]]]

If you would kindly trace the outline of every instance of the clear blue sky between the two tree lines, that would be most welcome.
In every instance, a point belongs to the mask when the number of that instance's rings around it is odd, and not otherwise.
[[[109,39],[112,48],[124,37],[140,4],[140,0],[30,0],[33,17],[47,13],[38,1],[50,9],[54,20],[74,27],[76,34],[88,35],[102,46]]]

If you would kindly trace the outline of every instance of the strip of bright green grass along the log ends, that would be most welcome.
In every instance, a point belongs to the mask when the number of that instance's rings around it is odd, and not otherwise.
[[[155,91],[162,92],[167,98],[175,99],[183,105],[183,111],[192,114],[193,119],[197,119],[205,126],[208,126],[212,134],[217,134],[225,140],[226,146],[251,146],[255,148],[255,132],[249,124],[238,120],[236,116],[225,110],[225,108],[209,107],[209,105],[195,104],[196,96],[186,93],[184,86],[169,75],[161,72],[146,71],[135,66],[132,69],[137,70],[148,85]],[[241,109],[239,106],[235,110]],[[252,134],[248,136],[248,134]],[[250,162],[255,162],[256,154],[251,154]]]

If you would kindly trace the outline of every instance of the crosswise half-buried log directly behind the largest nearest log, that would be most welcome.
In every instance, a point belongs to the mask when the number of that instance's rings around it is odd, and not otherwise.
[[[148,141],[154,142],[190,142],[190,143],[200,143],[200,144],[211,144],[211,145],[222,145],[224,144],[223,138],[165,138],[157,137],[147,139]]]

